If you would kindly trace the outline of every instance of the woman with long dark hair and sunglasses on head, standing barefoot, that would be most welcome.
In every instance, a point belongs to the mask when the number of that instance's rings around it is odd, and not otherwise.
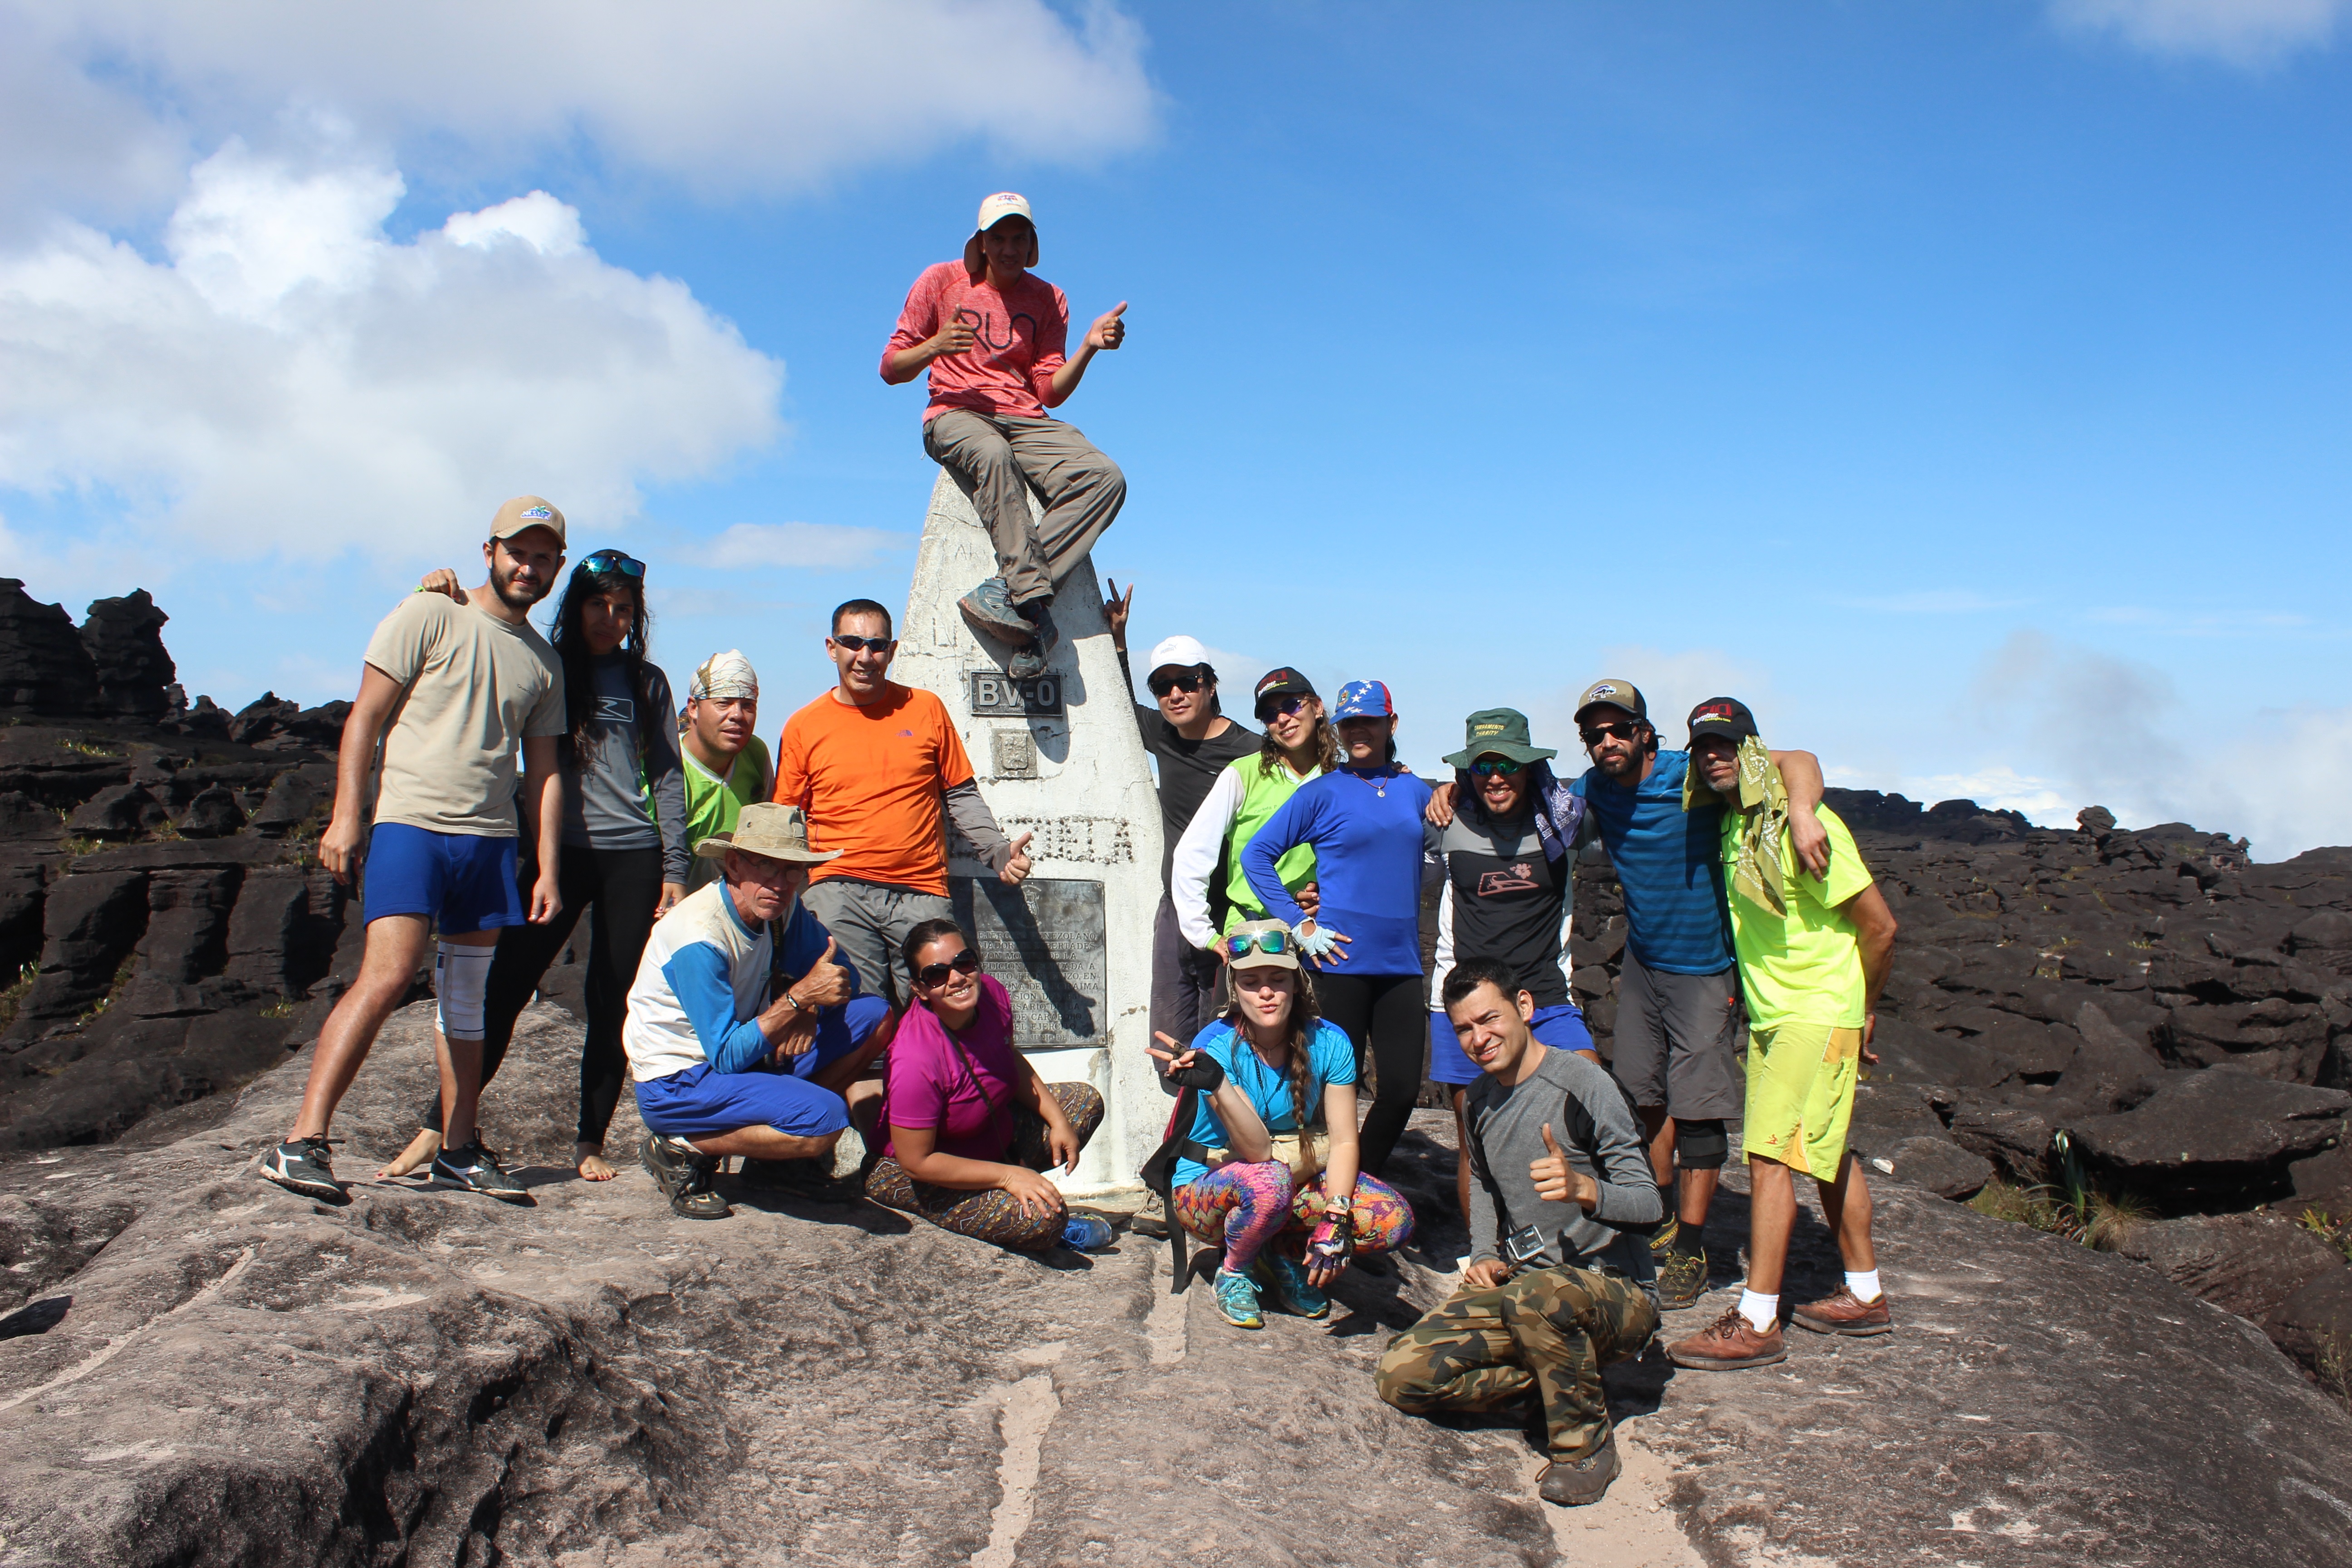
[[[454,578],[452,578],[454,581]],[[426,578],[435,588],[435,578]],[[581,1041],[581,1114],[572,1159],[593,1182],[612,1180],[604,1128],[621,1100],[621,1020],[654,922],[687,896],[687,780],[677,759],[677,703],[647,656],[644,562],[597,550],[572,569],[548,642],[564,663],[564,907],[546,926],[508,926],[482,1001],[482,1084],[515,1037],[515,1018],[548,964],[588,914],[588,1034]],[[524,879],[536,867],[524,867]],[[440,1098],[416,1140],[383,1175],[407,1175],[440,1150]]]

